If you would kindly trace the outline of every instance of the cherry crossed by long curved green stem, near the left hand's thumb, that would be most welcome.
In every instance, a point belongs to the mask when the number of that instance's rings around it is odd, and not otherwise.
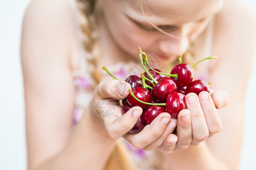
[[[137,88],[134,88],[132,91],[133,91],[133,94],[137,97],[137,99],[144,101],[146,103],[152,102],[152,96],[150,92],[145,88],[137,87]],[[136,99],[134,99],[134,97],[131,96],[131,94],[127,96],[127,102],[130,104],[131,107],[138,106],[138,107],[141,107],[142,109],[145,109],[148,107],[147,104],[141,103]]]

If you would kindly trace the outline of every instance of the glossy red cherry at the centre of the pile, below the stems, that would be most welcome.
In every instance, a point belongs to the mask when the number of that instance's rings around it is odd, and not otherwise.
[[[171,92],[176,91],[177,86],[170,77],[164,76],[159,80],[158,84],[156,84],[152,88],[152,96],[155,100],[164,103],[166,101],[166,97]]]

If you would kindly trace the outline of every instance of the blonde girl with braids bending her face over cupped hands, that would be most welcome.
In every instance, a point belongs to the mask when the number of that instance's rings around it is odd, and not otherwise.
[[[246,11],[229,0],[31,1],[21,45],[28,168],[237,169],[255,40]],[[142,108],[122,116],[130,84],[100,68],[124,78],[139,69],[139,46],[162,71],[180,54],[218,56],[195,68],[216,91],[188,94],[177,119],[161,113],[130,134]]]

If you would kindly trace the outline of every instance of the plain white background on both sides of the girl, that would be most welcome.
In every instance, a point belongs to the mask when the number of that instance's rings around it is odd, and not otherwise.
[[[241,0],[256,13],[255,0]],[[0,169],[27,169],[20,31],[28,0],[0,0]],[[256,168],[256,60],[247,90],[241,168]]]

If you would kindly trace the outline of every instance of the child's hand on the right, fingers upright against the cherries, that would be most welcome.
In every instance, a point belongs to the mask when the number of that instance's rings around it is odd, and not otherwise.
[[[188,94],[187,107],[177,117],[177,134],[168,135],[159,150],[172,152],[197,145],[221,130],[221,121],[216,108],[225,107],[229,103],[226,92],[208,92]]]

